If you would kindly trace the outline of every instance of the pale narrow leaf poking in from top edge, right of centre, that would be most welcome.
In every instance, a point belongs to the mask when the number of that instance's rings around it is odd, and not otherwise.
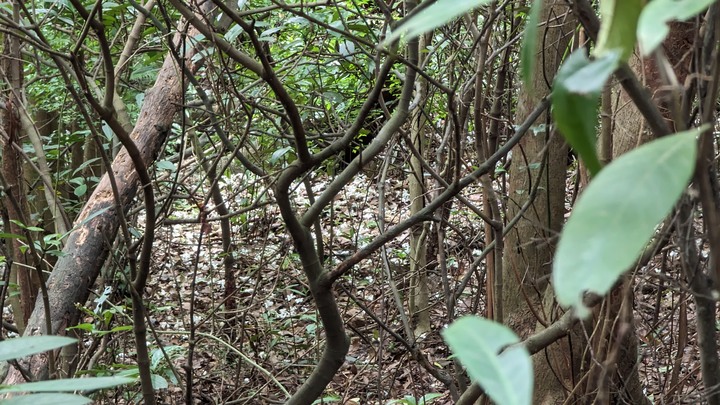
[[[456,17],[490,2],[491,0],[438,0],[403,21],[380,43],[380,47],[387,48],[400,38],[405,41],[417,38],[426,32],[447,24]]]

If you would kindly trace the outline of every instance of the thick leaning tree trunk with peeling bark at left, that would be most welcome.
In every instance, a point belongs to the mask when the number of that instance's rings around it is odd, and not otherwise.
[[[190,29],[188,38],[198,33]],[[182,40],[180,35],[175,43]],[[185,63],[191,69],[192,57],[195,48],[187,45]],[[163,145],[165,128],[170,128],[179,106],[182,105],[184,87],[180,81],[180,66],[175,62],[173,55],[168,54],[158,73],[155,85],[146,93],[140,115],[132,132],[142,160],[150,166]],[[76,303],[84,303],[88,299],[90,288],[100,273],[105,259],[108,256],[112,240],[118,231],[118,209],[126,211],[135,197],[138,188],[138,174],[123,148],[112,164],[112,174],[117,186],[120,206],[115,204],[115,196],[108,174],[103,176],[97,188],[80,213],[75,230],[68,237],[63,255],[55,265],[47,281],[50,302],[51,330],[45,330],[45,309],[42,301],[38,300],[25,332],[29,335],[64,334],[65,328],[77,323],[79,313]],[[43,379],[48,374],[47,356],[44,354],[32,356],[28,359],[26,367],[32,375]],[[24,382],[23,377],[15,369],[11,369],[4,384],[18,384]]]

